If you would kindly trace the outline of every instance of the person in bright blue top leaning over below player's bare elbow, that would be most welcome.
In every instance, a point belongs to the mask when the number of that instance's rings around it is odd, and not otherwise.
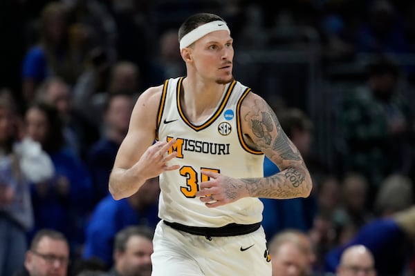
[[[113,264],[113,240],[119,230],[132,225],[156,228],[158,218],[158,177],[147,180],[131,197],[115,200],[108,195],[96,206],[88,226],[84,258],[99,257],[109,268]]]

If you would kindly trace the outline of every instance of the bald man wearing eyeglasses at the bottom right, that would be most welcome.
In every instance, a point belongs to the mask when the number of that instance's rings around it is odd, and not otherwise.
[[[350,246],[340,258],[338,276],[376,276],[374,257],[363,245]]]

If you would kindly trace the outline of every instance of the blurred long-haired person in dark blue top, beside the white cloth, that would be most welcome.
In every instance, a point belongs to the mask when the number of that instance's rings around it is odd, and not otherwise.
[[[55,167],[53,179],[33,187],[35,230],[53,228],[64,233],[77,254],[84,242],[86,218],[92,210],[92,181],[86,164],[64,147],[57,109],[35,103],[26,111],[27,135],[39,142]]]

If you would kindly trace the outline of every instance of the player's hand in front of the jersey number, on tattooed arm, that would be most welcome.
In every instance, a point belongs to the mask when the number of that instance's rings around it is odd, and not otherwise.
[[[225,177],[208,170],[202,170],[202,173],[210,179],[199,184],[200,190],[196,193],[196,197],[200,197],[209,208],[229,204],[248,196],[246,183],[240,179]]]

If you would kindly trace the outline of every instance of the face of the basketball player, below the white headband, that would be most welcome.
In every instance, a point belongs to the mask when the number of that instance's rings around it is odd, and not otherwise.
[[[232,77],[233,39],[225,30],[206,34],[194,43],[194,66],[197,72],[216,83],[229,83]]]

